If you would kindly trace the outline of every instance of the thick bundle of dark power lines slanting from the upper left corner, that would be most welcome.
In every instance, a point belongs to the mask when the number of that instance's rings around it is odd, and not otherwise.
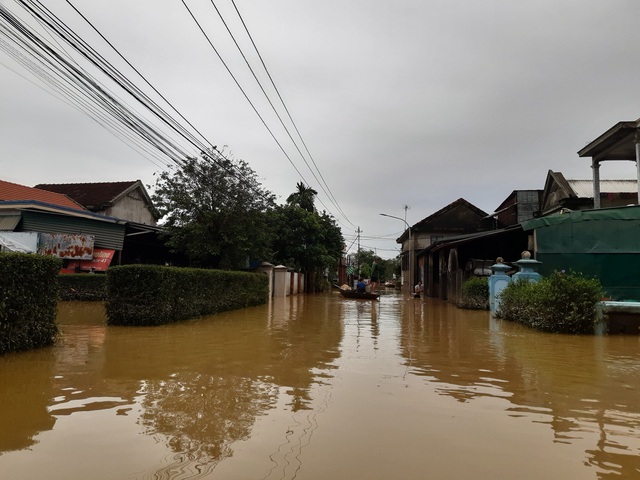
[[[172,131],[177,133],[180,137],[185,139],[189,144],[196,147],[202,154],[202,157],[206,161],[213,161],[221,168],[224,168],[229,173],[238,177],[241,181],[249,186],[250,189],[256,190],[255,186],[251,184],[250,179],[245,178],[237,166],[233,162],[229,161],[224,155],[216,149],[211,147],[211,143],[204,143],[192,135],[186,130],[179,122],[173,119],[164,109],[162,109],[156,102],[154,102],[148,95],[140,90],[136,85],[130,82],[122,73],[111,65],[104,57],[89,46],[84,40],[82,40],[72,29],[70,29],[64,22],[60,21],[51,11],[42,6],[39,2],[17,0],[20,6],[27,11],[45,30],[48,29],[65,43],[70,45],[76,52],[78,52],[86,61],[98,68],[103,74],[113,81],[117,86],[125,90],[127,94],[133,97],[138,103],[146,108],[147,111],[152,113],[157,119],[159,119],[165,126],[168,126]],[[69,5],[78,13],[85,22],[103,38],[103,40],[118,53],[118,55],[127,62],[134,71],[140,75],[143,80],[151,86],[154,91],[157,90],[144,78],[140,72],[135,69],[130,62],[128,62],[115,47],[106,40],[106,38],[97,30],[97,28],[89,22],[89,20],[75,8],[70,2]],[[134,113],[128,108],[121,100],[108,91],[108,89],[99,84],[95,78],[93,78],[88,72],[76,62],[71,63],[70,60],[64,58],[63,55],[55,51],[54,48],[47,45],[44,39],[38,37],[34,30],[29,30],[25,24],[13,16],[4,7],[2,8],[2,17],[5,22],[13,28],[11,32],[7,30],[7,27],[3,27],[5,35],[13,40],[18,47],[26,52],[27,57],[35,58],[38,62],[43,64],[43,68],[34,68],[34,64],[31,61],[24,61],[21,58],[21,62],[24,66],[40,78],[45,84],[53,86],[55,90],[64,94],[70,99],[72,103],[76,105],[76,108],[84,110],[92,116],[98,123],[110,130],[112,133],[116,131],[119,135],[122,135],[137,143],[138,147],[142,147],[147,150],[144,145],[151,145],[155,149],[159,150],[166,157],[170,158],[174,163],[181,165],[184,159],[190,155],[183,147],[179,146],[173,140],[169,139],[166,135],[152,126],[150,123],[140,117],[139,114]],[[8,34],[9,32],[10,34]],[[59,44],[58,44],[59,45]],[[7,51],[7,49],[5,49]],[[15,55],[13,55],[15,57]],[[22,57],[22,55],[20,55]],[[68,57],[68,54],[66,54]],[[53,71],[60,79],[69,84],[71,89],[64,86],[64,83],[52,79],[47,71]],[[159,93],[158,93],[159,94]],[[87,100],[83,100],[84,96]],[[160,94],[159,94],[160,95]],[[183,119],[184,117],[180,112],[173,107],[173,105],[166,100],[162,95],[160,97],[169,104],[174,111],[176,111]],[[101,110],[96,110],[93,105],[97,105]],[[105,116],[101,111],[104,111],[108,116]],[[117,122],[114,122],[114,120]],[[107,125],[105,125],[108,124]],[[191,123],[189,126],[195,129]],[[196,130],[197,131],[197,130]],[[202,134],[197,132],[202,138]],[[206,139],[204,139],[206,142]],[[143,142],[143,143],[141,143]],[[234,171],[235,170],[235,171]],[[256,190],[258,194],[264,196],[264,192]]]

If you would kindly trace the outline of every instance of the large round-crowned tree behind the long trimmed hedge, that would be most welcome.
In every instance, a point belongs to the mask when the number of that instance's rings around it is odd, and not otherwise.
[[[244,161],[217,152],[189,158],[160,174],[153,201],[167,245],[195,265],[243,268],[270,257],[275,198]]]

